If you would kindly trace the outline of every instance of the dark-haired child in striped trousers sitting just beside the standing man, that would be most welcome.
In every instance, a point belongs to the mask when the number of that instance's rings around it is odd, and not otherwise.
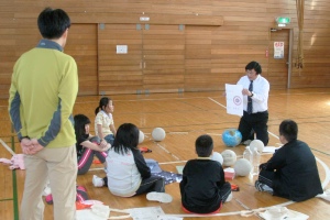
[[[97,136],[89,133],[90,120],[84,114],[77,114],[75,120],[76,148],[78,157],[78,175],[86,174],[96,155],[106,166],[107,151],[110,144],[106,141],[100,141]]]

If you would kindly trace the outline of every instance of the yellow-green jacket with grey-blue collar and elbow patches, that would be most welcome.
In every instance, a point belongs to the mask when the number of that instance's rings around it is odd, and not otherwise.
[[[75,59],[48,40],[15,63],[9,90],[9,114],[19,140],[36,138],[47,147],[76,143],[73,108],[78,92]]]

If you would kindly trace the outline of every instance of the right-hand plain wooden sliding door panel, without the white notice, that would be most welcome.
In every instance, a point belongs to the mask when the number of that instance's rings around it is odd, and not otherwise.
[[[143,30],[143,87],[147,92],[177,92],[184,88],[185,31],[178,25]]]

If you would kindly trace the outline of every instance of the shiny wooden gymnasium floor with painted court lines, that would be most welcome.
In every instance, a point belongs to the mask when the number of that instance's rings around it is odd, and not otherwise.
[[[226,112],[226,99],[222,92],[187,92],[187,94],[151,94],[113,96],[114,122],[118,128],[121,123],[136,124],[145,134],[140,146],[146,146],[152,153],[146,158],[154,158],[163,170],[176,172],[176,166],[184,165],[187,160],[195,158],[194,143],[200,134],[210,134],[215,141],[215,151],[221,153],[230,148],[240,157],[244,146],[227,147],[221,141],[221,133],[229,128],[237,128],[239,117]],[[87,114],[94,121],[94,110],[100,97],[79,97],[74,113]],[[0,100],[1,138],[11,145],[11,125],[7,113],[8,101]],[[294,119],[299,125],[299,139],[307,142],[318,158],[319,173],[324,189],[329,188],[330,165],[330,88],[323,89],[292,89],[272,90],[270,94],[270,146],[278,146],[278,124],[284,119]],[[162,142],[154,142],[151,132],[161,127],[166,131]],[[91,125],[94,129],[94,125]],[[92,131],[94,133],[94,131]],[[14,139],[16,140],[16,139]],[[13,145],[19,153],[18,143]],[[10,154],[0,147],[0,157],[10,157]],[[266,162],[270,155],[263,155]],[[98,169],[99,168],[99,169]],[[101,200],[116,209],[161,207],[166,215],[185,215],[180,209],[180,194],[177,183],[166,185],[166,191],[174,200],[170,204],[147,201],[145,196],[119,198],[112,196],[108,188],[94,188],[92,175],[105,176],[100,165],[94,165],[92,170],[78,176],[78,185],[87,188],[90,199]],[[286,199],[273,197],[266,193],[255,190],[251,177],[237,177],[230,180],[240,187],[233,193],[233,199],[221,209],[223,217],[207,217],[208,219],[246,219],[239,211],[257,209],[288,202],[287,208],[308,215],[309,219],[327,219],[330,216],[329,202],[314,198],[304,202],[290,204]],[[16,219],[15,208],[20,206],[23,190],[24,170],[11,172],[0,165],[0,219]],[[112,216],[112,212],[111,212]],[[45,219],[53,219],[52,206],[46,205]],[[184,219],[197,219],[185,217]],[[260,219],[257,216],[248,219]]]

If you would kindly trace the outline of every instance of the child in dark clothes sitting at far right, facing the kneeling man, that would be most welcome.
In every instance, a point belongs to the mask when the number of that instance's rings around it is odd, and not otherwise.
[[[279,141],[284,145],[268,162],[260,165],[255,182],[258,191],[293,201],[304,201],[323,193],[316,158],[309,146],[297,138],[298,124],[284,120],[279,124]]]

